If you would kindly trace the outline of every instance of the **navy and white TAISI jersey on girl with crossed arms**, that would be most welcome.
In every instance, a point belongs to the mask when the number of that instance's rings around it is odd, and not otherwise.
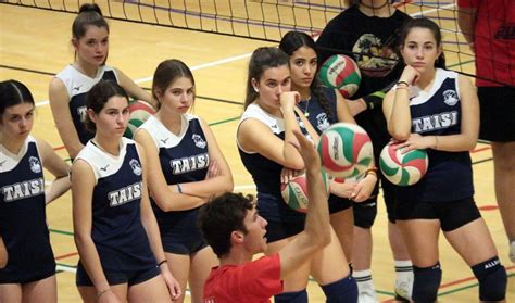
[[[194,182],[205,179],[210,166],[209,147],[204,131],[197,116],[185,114],[180,134],[171,132],[159,119],[150,117],[142,126],[155,142],[163,175],[167,185]],[[179,212],[163,212],[152,203],[162,233],[178,222],[188,220],[197,227],[198,207]],[[192,230],[193,231],[193,230]]]

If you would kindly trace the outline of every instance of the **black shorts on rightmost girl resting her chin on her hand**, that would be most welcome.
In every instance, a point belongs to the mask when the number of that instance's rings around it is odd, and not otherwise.
[[[456,201],[398,201],[398,220],[439,219],[443,231],[452,231],[481,217],[473,198]]]

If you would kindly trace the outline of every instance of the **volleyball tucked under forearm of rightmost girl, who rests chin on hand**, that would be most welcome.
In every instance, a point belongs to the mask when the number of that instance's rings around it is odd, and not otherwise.
[[[398,144],[387,144],[379,159],[382,175],[398,186],[411,186],[418,182],[427,172],[429,160],[425,150],[412,150],[402,153]]]

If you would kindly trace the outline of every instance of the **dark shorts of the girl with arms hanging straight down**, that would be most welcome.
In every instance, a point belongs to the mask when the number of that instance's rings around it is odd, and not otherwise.
[[[139,285],[145,281],[148,281],[158,275],[161,274],[161,270],[158,266],[151,266],[145,270],[134,270],[134,272],[112,272],[104,270],[105,278],[110,286],[127,283],[128,286]],[[75,276],[75,283],[78,287],[92,287],[93,282],[86,273],[80,261],[77,265],[77,274]]]

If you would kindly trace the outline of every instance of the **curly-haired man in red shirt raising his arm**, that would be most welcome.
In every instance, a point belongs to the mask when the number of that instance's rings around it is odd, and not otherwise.
[[[278,253],[252,261],[266,249],[267,222],[252,199],[225,193],[208,203],[200,214],[205,240],[219,258],[204,285],[204,303],[271,302],[282,292],[282,279],[330,242],[327,191],[321,160],[313,143],[294,132],[294,143],[305,163],[310,204],[304,231]]]

